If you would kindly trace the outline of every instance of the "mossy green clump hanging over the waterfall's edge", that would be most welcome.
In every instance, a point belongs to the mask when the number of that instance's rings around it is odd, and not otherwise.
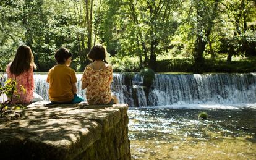
[[[155,79],[154,70],[150,68],[144,68],[140,70],[139,74],[143,77],[143,86],[147,86],[149,88]]]

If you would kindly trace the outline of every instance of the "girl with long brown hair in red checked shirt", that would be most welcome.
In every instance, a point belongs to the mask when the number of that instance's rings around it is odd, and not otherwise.
[[[30,47],[19,46],[14,60],[7,65],[6,69],[7,77],[17,82],[17,93],[13,95],[12,103],[24,104],[43,100],[34,92],[33,69],[36,69],[36,65]]]

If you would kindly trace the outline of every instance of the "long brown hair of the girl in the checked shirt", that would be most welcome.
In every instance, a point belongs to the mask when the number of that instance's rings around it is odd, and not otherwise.
[[[27,71],[30,66],[33,66],[34,69],[36,69],[33,53],[29,46],[21,45],[17,49],[14,61],[11,63],[10,72],[11,74],[18,76]]]

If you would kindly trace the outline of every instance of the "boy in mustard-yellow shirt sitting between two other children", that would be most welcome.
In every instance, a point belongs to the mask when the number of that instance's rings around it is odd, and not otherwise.
[[[57,65],[49,70],[49,99],[51,103],[80,103],[82,96],[77,95],[77,77],[75,71],[69,67],[72,53],[66,48],[60,48],[55,53]]]

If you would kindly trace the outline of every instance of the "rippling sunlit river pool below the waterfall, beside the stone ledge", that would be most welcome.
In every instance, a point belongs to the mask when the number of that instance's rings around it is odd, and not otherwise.
[[[256,159],[255,106],[202,106],[129,109],[132,159]]]

